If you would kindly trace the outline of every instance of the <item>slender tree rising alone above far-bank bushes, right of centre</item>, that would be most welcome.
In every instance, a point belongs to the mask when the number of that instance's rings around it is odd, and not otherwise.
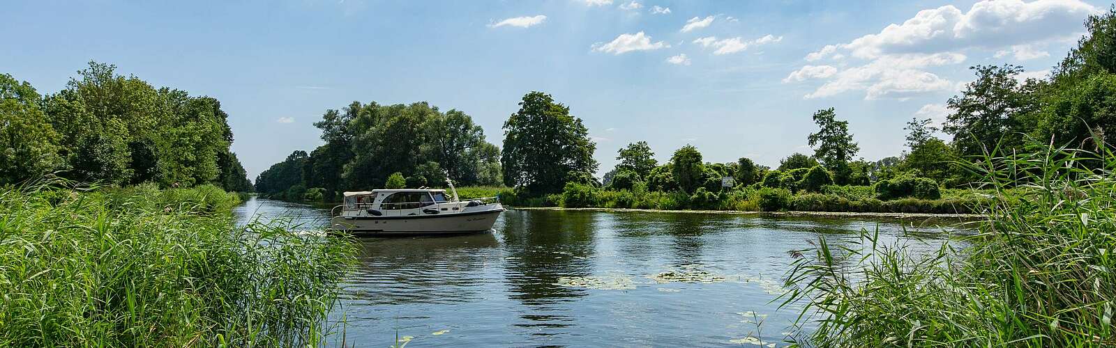
[[[834,108],[814,113],[814,123],[818,124],[820,129],[810,134],[807,141],[810,147],[814,147],[814,157],[822,165],[835,170],[856,157],[860,146],[853,142],[853,135],[848,133],[848,122],[837,120]]]

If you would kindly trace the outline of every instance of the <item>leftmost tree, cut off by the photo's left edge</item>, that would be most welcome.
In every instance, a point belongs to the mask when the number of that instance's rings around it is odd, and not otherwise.
[[[0,74],[0,185],[61,168],[58,134],[39,108],[27,81]]]

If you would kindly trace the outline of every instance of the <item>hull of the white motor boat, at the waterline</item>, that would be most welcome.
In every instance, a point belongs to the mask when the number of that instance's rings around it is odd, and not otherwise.
[[[334,216],[330,230],[360,235],[483,233],[492,230],[503,209],[455,214],[410,216]]]

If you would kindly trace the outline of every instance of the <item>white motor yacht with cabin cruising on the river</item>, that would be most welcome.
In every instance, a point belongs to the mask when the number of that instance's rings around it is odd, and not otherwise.
[[[452,184],[451,184],[452,190]],[[498,197],[459,200],[445,190],[345,192],[330,229],[354,234],[443,234],[488,232],[503,212]]]

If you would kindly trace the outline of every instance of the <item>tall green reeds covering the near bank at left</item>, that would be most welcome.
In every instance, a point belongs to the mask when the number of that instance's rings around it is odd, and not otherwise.
[[[235,228],[215,186],[0,190],[0,346],[317,344],[347,240]]]

